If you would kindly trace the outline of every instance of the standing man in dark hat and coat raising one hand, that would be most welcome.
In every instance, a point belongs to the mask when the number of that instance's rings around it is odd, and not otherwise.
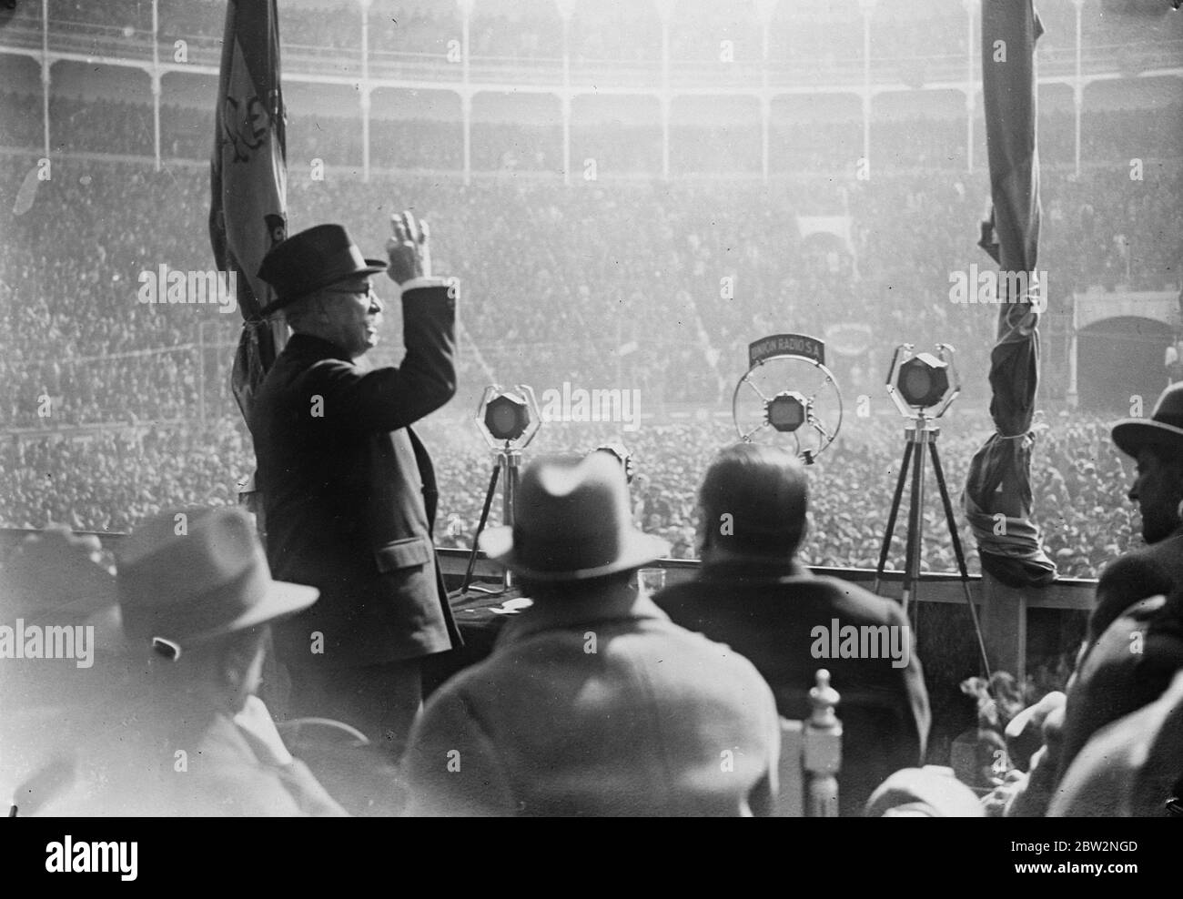
[[[395,755],[422,703],[420,660],[460,645],[432,539],[435,476],[411,425],[455,392],[455,283],[431,277],[427,225],[394,216],[402,364],[370,368],[383,310],[340,225],[284,240],[259,277],[293,335],[250,420],[267,558],[321,601],[276,629],[293,716],[340,718]]]

